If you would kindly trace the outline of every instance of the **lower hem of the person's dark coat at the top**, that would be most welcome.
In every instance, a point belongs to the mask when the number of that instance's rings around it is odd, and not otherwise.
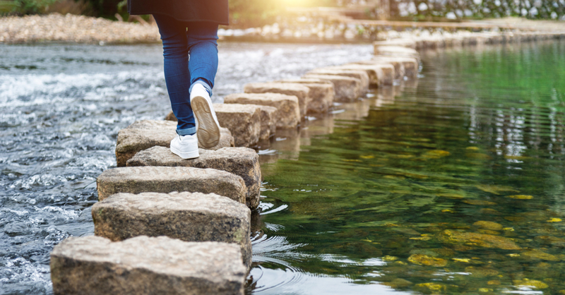
[[[227,0],[128,0],[129,14],[166,14],[182,21],[228,25]]]

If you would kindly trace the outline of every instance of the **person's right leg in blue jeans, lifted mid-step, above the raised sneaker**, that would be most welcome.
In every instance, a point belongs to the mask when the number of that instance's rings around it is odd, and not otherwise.
[[[202,84],[211,96],[218,71],[218,24],[189,23],[187,27],[191,89],[195,84]]]

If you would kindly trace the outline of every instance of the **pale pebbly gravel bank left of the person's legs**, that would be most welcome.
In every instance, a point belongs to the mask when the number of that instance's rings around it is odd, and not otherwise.
[[[72,14],[0,18],[0,43],[34,42],[155,43],[160,42],[160,37],[156,25]]]

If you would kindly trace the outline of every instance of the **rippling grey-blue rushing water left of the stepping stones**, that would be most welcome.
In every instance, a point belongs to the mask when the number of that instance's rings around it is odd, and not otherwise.
[[[220,43],[214,100],[370,59],[369,45]],[[0,294],[51,294],[49,252],[93,234],[117,132],[170,110],[160,45],[0,44]]]

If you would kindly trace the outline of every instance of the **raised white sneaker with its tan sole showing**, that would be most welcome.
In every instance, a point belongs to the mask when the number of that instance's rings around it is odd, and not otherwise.
[[[215,147],[220,141],[220,124],[208,90],[202,84],[196,84],[192,88],[190,104],[196,116],[198,143],[202,148]]]

